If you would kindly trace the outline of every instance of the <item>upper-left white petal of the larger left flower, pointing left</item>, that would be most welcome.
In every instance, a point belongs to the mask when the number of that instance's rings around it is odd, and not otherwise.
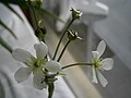
[[[28,51],[19,48],[12,52],[12,57],[21,62],[31,62],[34,59]]]

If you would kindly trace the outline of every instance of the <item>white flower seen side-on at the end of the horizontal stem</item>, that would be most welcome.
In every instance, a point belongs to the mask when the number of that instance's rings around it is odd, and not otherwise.
[[[106,58],[104,60],[100,59],[102,54],[104,53],[106,49],[106,44],[104,40],[102,40],[98,46],[96,51],[92,51],[93,53],[93,60],[92,60],[92,71],[93,71],[93,83],[102,84],[103,87],[106,87],[108,84],[107,79],[103,76],[100,71],[108,71],[111,70],[114,66],[114,60],[111,58]],[[97,81],[98,78],[98,81]]]

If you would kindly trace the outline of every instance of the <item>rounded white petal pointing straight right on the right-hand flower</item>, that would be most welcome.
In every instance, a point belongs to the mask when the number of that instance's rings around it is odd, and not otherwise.
[[[103,61],[104,70],[111,70],[114,68],[114,59],[106,58]]]

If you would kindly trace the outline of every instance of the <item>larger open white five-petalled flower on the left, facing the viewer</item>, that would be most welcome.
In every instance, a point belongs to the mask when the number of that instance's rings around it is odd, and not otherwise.
[[[40,41],[39,44],[35,44],[34,48],[36,50],[37,58],[33,57],[28,51],[23,49],[15,49],[12,52],[13,59],[23,62],[26,65],[26,68],[21,68],[15,72],[14,78],[17,83],[21,83],[26,81],[33,73],[34,87],[37,89],[43,89],[47,87],[46,83],[44,82],[44,69],[48,70],[49,72],[57,73],[61,71],[61,65],[57,61],[47,61],[45,58],[48,53],[48,47],[46,44]]]

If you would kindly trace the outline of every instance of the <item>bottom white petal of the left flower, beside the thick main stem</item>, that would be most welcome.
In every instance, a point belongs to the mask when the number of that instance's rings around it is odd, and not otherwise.
[[[47,84],[44,82],[45,75],[43,72],[35,72],[34,77],[33,77],[33,85],[35,88],[43,90],[44,88],[47,87]]]

